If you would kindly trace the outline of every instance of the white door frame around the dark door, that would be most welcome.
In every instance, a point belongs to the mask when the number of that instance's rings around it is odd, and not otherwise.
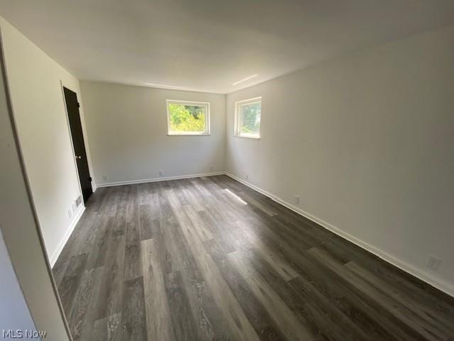
[[[68,134],[70,134],[72,162],[74,163],[74,170],[76,171],[76,175],[77,175],[77,185],[79,185],[79,195],[82,196],[82,198],[83,198],[84,195],[82,193],[82,186],[80,185],[79,168],[77,168],[77,161],[76,161],[76,158],[74,158],[74,156],[76,155],[76,152],[74,151],[74,142],[72,141],[70,117],[68,116],[68,109],[66,107],[65,89],[63,89],[64,87],[66,87],[68,90],[71,90],[72,92],[74,92],[77,95],[77,102],[80,101],[80,94],[79,94],[79,92],[77,92],[77,90],[74,90],[72,87],[65,85],[63,80],[60,80],[60,90],[62,91],[63,105],[65,106],[66,125],[67,125],[67,129],[68,129]],[[87,129],[85,129],[85,120],[82,117],[82,115],[80,114],[80,107],[79,107],[79,118],[80,118],[80,124],[82,126],[82,136],[84,137],[85,153],[87,153],[88,171],[89,171],[90,177],[92,178],[92,180],[90,181],[90,185],[92,186],[92,192],[94,193],[96,191],[96,185],[94,185],[94,180],[93,180],[94,177],[93,177],[92,162],[91,162],[92,158],[90,158],[90,155],[89,155],[90,152],[89,152],[89,148],[88,148],[88,138],[87,138],[87,134],[85,134]],[[82,199],[81,203],[82,203],[83,207],[85,207],[85,202],[83,199]]]

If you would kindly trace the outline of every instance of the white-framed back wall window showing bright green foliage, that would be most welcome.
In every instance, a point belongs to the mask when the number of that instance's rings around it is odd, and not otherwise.
[[[210,104],[167,99],[169,135],[209,135]]]

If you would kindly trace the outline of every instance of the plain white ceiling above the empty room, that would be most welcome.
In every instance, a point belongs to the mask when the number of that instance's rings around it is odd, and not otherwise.
[[[79,79],[228,93],[453,22],[454,1],[0,0],[0,14]]]

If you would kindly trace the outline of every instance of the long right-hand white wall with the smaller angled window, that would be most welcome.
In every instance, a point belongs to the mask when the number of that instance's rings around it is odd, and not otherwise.
[[[258,96],[262,139],[233,137]],[[228,94],[226,131],[228,172],[454,294],[453,26]]]

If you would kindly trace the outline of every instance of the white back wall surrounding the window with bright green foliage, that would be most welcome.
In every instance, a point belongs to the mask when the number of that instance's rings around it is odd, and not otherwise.
[[[85,81],[81,89],[96,185],[224,170],[225,95]],[[210,102],[211,135],[167,136],[166,99]]]

